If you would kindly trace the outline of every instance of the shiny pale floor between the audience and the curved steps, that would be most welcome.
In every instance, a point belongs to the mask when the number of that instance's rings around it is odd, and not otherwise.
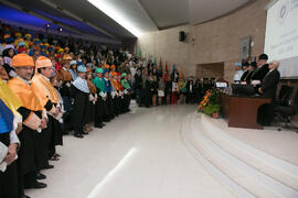
[[[194,106],[132,108],[83,140],[64,138],[61,161],[32,198],[230,198],[181,141]]]

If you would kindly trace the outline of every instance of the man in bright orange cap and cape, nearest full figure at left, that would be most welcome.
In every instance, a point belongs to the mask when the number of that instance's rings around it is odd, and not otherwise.
[[[36,180],[35,160],[40,147],[34,139],[35,133],[40,133],[46,128],[46,114],[31,87],[30,80],[34,67],[32,57],[26,54],[18,54],[12,58],[12,66],[15,68],[18,76],[8,80],[8,86],[21,101],[18,111],[23,118],[23,129],[19,133],[22,146],[18,153],[18,184],[20,196],[24,197],[24,187],[46,187],[45,184]]]

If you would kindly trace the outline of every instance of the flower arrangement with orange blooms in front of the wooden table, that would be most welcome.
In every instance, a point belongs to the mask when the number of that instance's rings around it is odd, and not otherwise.
[[[207,90],[198,107],[198,111],[209,116],[217,113],[220,111],[219,91],[212,89]]]

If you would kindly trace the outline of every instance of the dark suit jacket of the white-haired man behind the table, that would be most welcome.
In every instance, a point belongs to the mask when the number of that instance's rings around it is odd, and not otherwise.
[[[263,96],[266,98],[272,98],[273,102],[275,102],[276,99],[275,97],[279,78],[280,78],[279,72],[277,69],[274,69],[265,76],[260,85]]]

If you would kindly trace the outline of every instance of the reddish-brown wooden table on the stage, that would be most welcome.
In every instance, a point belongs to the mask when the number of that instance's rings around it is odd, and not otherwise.
[[[257,123],[257,110],[270,102],[269,98],[220,94],[221,113],[231,128],[263,129]]]

